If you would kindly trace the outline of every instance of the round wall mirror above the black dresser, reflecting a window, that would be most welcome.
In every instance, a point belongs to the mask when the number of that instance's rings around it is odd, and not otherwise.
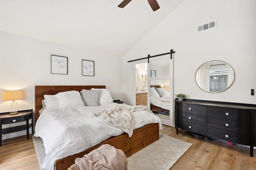
[[[235,79],[235,72],[223,61],[209,61],[196,71],[196,84],[204,91],[218,93],[227,90]]]

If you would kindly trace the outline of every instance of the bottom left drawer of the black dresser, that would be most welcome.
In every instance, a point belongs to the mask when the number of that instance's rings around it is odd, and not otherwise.
[[[200,135],[206,135],[207,134],[207,127],[204,125],[191,123],[188,121],[178,120],[178,127],[181,129],[184,129],[186,131],[198,133]]]

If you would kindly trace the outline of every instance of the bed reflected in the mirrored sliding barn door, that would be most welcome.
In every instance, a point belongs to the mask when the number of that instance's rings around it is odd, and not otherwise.
[[[150,88],[161,88],[160,85],[151,85]],[[157,92],[152,92],[152,89],[150,89],[150,95],[153,97],[160,97],[154,96],[155,93]],[[150,109],[152,110],[153,113],[160,113],[160,114],[168,114],[170,112],[170,104],[169,102],[164,102],[164,101],[157,101],[157,100],[150,100]]]

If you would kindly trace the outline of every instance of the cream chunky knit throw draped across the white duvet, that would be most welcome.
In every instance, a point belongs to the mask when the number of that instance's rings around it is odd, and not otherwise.
[[[143,110],[152,113],[148,107],[143,105],[130,106],[127,104],[118,104],[111,110],[103,110],[98,113],[92,113],[90,114],[90,117],[102,120],[110,126],[118,127],[124,132],[128,133],[129,137],[131,137],[135,126],[135,118],[133,112]]]

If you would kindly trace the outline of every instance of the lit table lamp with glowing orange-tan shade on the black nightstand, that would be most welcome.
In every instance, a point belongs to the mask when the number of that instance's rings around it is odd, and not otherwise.
[[[10,90],[10,91],[3,91],[3,100],[11,102],[11,112],[9,115],[16,115],[17,112],[17,102],[16,100],[23,99],[23,90]]]

